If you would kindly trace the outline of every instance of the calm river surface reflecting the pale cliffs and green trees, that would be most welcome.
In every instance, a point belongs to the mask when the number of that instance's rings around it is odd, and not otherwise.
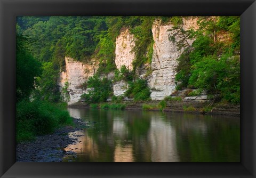
[[[240,119],[157,111],[68,108],[89,122],[72,161],[240,161]],[[66,161],[71,158],[65,158]]]

